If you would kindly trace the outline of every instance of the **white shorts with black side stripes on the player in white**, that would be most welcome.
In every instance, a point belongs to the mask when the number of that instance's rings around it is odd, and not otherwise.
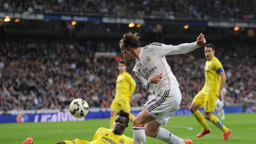
[[[144,104],[149,115],[162,125],[166,125],[168,119],[177,110],[181,102],[179,88],[162,91],[156,97]]]

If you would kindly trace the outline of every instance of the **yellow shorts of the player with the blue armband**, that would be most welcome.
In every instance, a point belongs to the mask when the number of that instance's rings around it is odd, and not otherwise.
[[[206,95],[200,91],[196,94],[192,102],[198,104],[199,107],[203,105],[205,112],[214,112],[217,99],[217,95]]]

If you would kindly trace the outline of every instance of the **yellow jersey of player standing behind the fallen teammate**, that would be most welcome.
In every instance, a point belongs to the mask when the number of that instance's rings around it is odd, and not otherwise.
[[[136,83],[132,76],[124,71],[121,72],[116,79],[115,99],[120,101],[129,100],[136,87]]]

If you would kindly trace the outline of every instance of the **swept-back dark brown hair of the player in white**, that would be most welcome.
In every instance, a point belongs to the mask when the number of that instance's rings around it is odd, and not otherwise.
[[[133,48],[139,48],[141,47],[141,41],[140,36],[138,36],[137,32],[129,32],[123,35],[123,38],[119,41],[119,45],[121,42],[124,43],[124,46],[128,48],[128,46],[131,46]]]

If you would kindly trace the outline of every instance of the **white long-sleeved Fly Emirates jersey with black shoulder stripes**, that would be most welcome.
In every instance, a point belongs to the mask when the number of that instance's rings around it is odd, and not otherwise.
[[[196,42],[184,43],[177,46],[152,43],[141,48],[139,60],[135,60],[136,64],[133,71],[141,80],[145,89],[149,92],[155,91],[156,95],[162,91],[178,88],[178,81],[173,75],[165,56],[187,53],[196,48],[199,48]],[[153,84],[148,82],[149,77],[161,73],[163,78],[160,83]]]

